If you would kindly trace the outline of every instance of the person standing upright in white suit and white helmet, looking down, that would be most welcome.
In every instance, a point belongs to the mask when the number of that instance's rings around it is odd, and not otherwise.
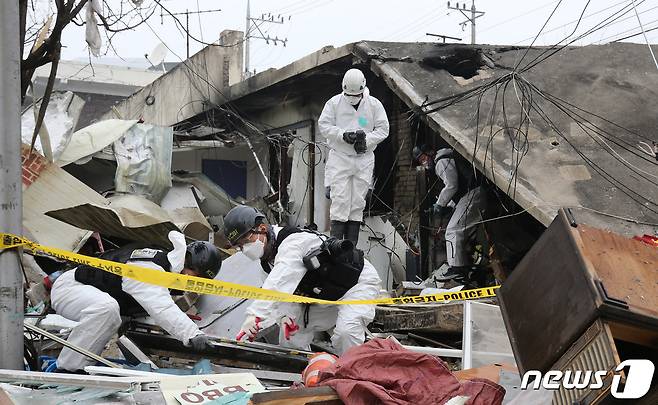
[[[375,168],[374,150],[389,130],[384,106],[370,95],[359,69],[345,73],[343,92],[327,101],[318,127],[329,146],[324,185],[331,198],[331,236],[356,245]]]

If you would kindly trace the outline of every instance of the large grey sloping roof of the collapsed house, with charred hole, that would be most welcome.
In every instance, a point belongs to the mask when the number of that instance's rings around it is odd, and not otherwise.
[[[641,45],[528,49],[364,41],[325,47],[223,88],[214,107],[179,115],[177,125],[217,120],[215,126],[226,127],[236,106],[263,111],[311,99],[337,87],[352,64],[369,67],[545,226],[569,207],[593,226],[625,235],[655,232],[658,71]]]

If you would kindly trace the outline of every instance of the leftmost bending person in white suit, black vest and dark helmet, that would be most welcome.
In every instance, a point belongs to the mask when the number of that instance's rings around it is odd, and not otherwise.
[[[178,231],[168,235],[171,251],[134,243],[103,253],[102,259],[128,263],[158,271],[214,278],[221,267],[218,249],[209,242],[185,244]],[[78,266],[64,272],[53,283],[52,307],[59,315],[79,324],[68,341],[100,354],[121,325],[122,316],[148,313],[155,323],[186,346],[203,350],[208,337],[174,303],[169,290],[106,272],[91,266]],[[69,348],[57,358],[57,369],[80,372],[95,361]]]

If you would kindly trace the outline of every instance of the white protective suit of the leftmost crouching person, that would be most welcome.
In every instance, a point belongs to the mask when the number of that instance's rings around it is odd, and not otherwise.
[[[169,239],[174,245],[174,250],[167,254],[167,259],[171,264],[171,271],[180,273],[185,263],[185,237],[180,232],[172,231]],[[128,263],[164,271],[162,267],[148,261],[128,261]],[[98,271],[103,270],[98,269]],[[203,333],[178,308],[168,289],[125,277],[121,282],[121,288],[144,307],[157,325],[183,344],[187,345],[191,338]],[[79,322],[71,331],[68,341],[92,353],[101,354],[112,335],[121,326],[118,302],[106,292],[76,281],[75,269],[65,272],[55,280],[50,299],[55,312]],[[57,358],[58,368],[69,371],[81,370],[95,363],[96,361],[66,347]]]

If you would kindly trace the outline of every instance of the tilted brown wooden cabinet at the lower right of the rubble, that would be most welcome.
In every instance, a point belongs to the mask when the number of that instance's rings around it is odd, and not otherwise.
[[[499,301],[522,373],[614,370],[626,358],[658,364],[658,249],[566,211],[500,288]],[[581,394],[554,403],[605,397]]]

